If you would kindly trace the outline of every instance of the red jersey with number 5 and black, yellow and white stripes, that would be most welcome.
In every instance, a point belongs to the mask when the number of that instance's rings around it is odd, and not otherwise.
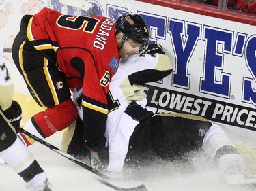
[[[56,60],[70,88],[84,84],[85,105],[86,98],[106,104],[109,81],[119,65],[114,28],[115,20],[106,17],[63,15],[44,8],[31,18],[27,36],[46,58]],[[95,101],[90,107],[106,113]]]

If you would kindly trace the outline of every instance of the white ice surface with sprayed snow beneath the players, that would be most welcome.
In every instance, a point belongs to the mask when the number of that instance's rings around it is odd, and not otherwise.
[[[46,141],[60,147],[62,133],[48,137]],[[113,191],[98,181],[98,176],[74,162],[35,143],[29,147],[46,171],[53,191]],[[153,167],[134,168],[126,172],[126,180],[111,181],[112,184],[130,188],[145,184],[148,191],[253,191],[248,186],[229,186],[220,180],[216,169],[192,171],[178,162]],[[21,179],[7,164],[0,165],[0,191],[26,191]]]

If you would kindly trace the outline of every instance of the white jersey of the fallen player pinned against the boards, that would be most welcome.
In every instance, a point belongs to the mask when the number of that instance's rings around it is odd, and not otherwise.
[[[171,60],[164,54],[134,55],[128,60],[120,60],[119,68],[109,84],[105,132],[106,145],[109,147],[109,171],[122,171],[130,136],[139,124],[138,120],[125,113],[126,108],[132,101],[145,108],[147,99],[141,92],[143,84],[161,80],[171,74],[172,69]],[[76,94],[79,92],[74,90],[74,100],[77,99]],[[79,109],[79,116],[83,116],[82,112]]]

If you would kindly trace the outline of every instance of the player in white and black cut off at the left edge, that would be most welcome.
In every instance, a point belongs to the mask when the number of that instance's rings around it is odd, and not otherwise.
[[[27,182],[29,190],[51,191],[48,188],[46,173],[16,136],[22,112],[18,102],[12,99],[14,87],[1,56],[0,68],[0,158]]]

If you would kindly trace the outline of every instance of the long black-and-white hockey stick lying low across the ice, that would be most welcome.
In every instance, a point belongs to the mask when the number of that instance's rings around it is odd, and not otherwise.
[[[137,186],[134,188],[120,188],[118,186],[115,186],[115,185],[111,184],[109,181],[107,181],[107,180],[111,180],[110,177],[104,175],[103,173],[100,173],[100,171],[97,171],[96,169],[91,168],[85,162],[83,162],[77,158],[74,158],[74,156],[67,154],[66,152],[63,152],[59,148],[55,147],[54,145],[51,145],[50,143],[44,141],[43,139],[40,139],[39,137],[36,137],[35,135],[29,133],[28,131],[26,131],[23,128],[20,128],[20,133],[23,133],[23,134],[29,136],[31,139],[41,143],[42,145],[45,145],[46,147],[53,150],[54,152],[57,152],[57,154],[60,154],[61,156],[68,158],[68,160],[71,160],[72,162],[78,164],[80,167],[83,167],[83,168],[87,169],[88,171],[90,171],[91,173],[98,175],[99,177],[102,178],[102,179],[98,179],[98,181],[100,181],[102,184],[105,184],[106,186],[109,186],[118,191],[147,191],[147,188],[145,187],[144,184],[141,184],[140,186]]]

